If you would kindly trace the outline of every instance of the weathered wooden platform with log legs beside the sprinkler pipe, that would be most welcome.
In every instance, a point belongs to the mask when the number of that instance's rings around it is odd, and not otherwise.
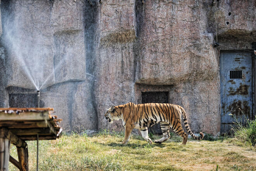
[[[28,171],[26,140],[55,140],[61,135],[52,108],[0,108],[0,171],[8,171],[9,161],[20,171]],[[10,156],[16,145],[19,161]]]

